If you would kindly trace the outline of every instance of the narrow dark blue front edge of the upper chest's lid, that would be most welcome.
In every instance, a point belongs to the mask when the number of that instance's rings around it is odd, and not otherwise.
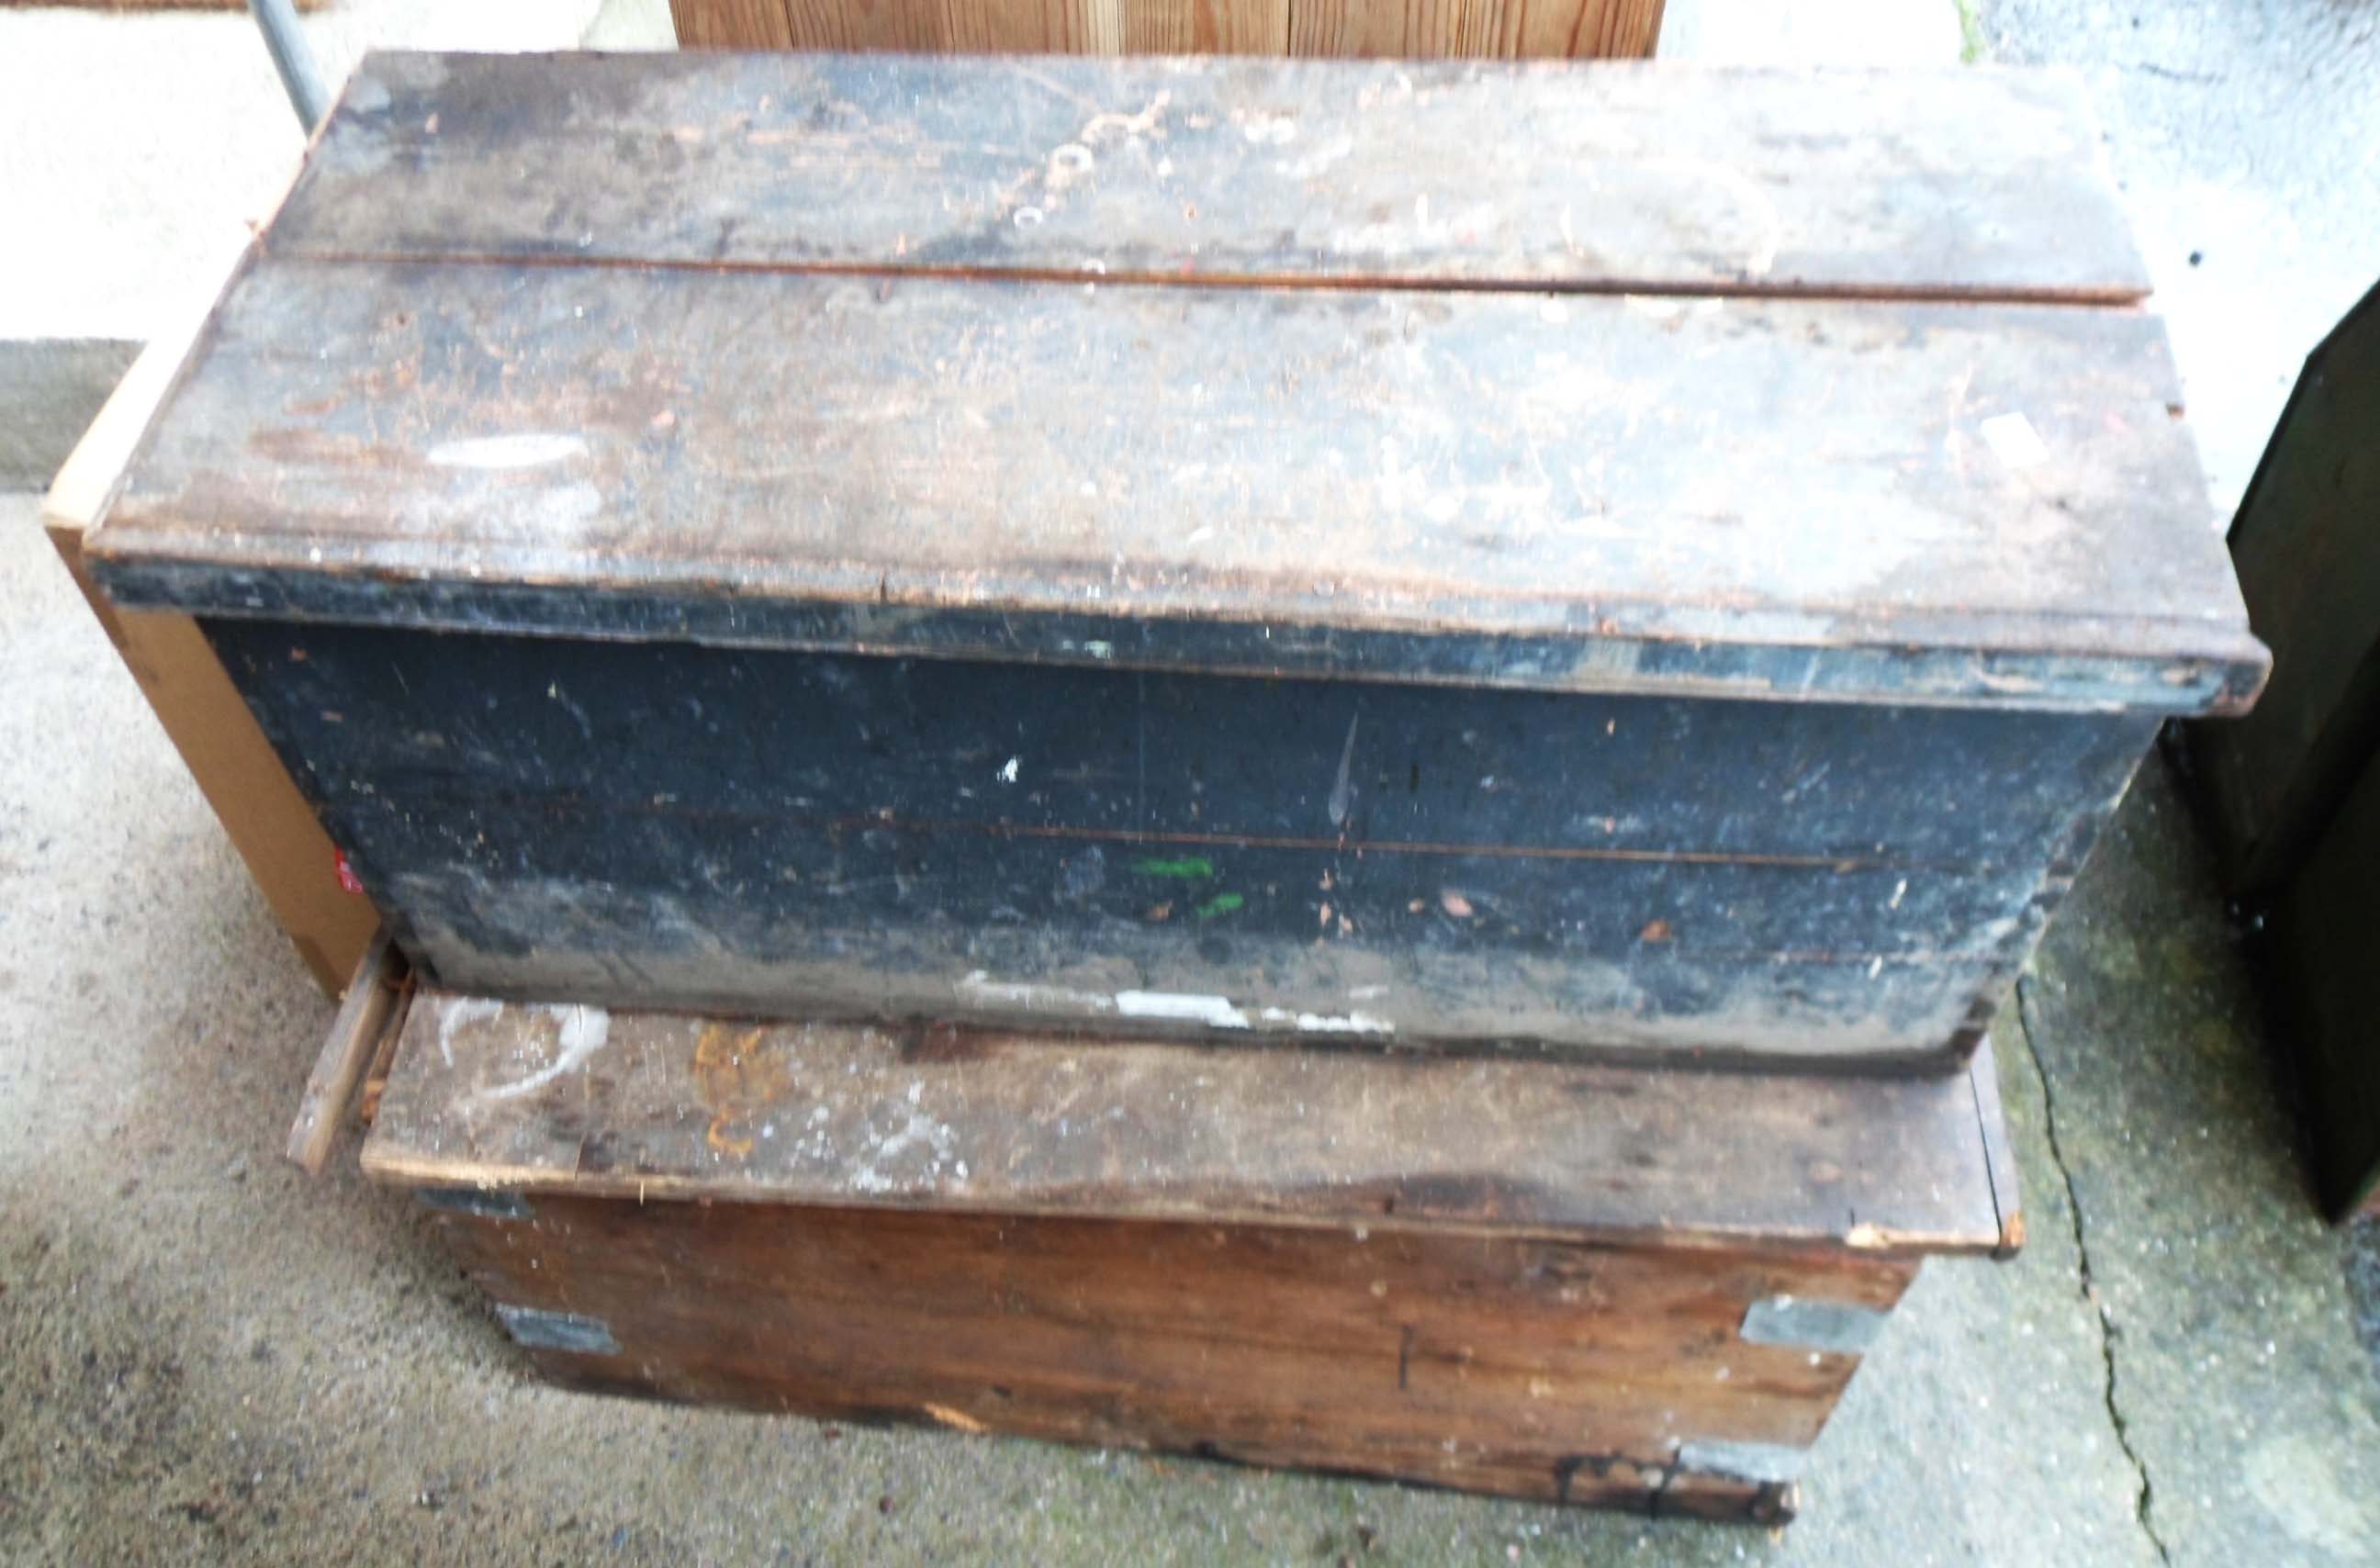
[[[1102,616],[1064,604],[978,611],[933,604],[923,588],[895,592],[881,576],[854,581],[845,597],[771,600],[752,583],[654,573],[645,588],[593,590],[524,573],[519,583],[471,581],[464,600],[431,562],[226,569],[219,559],[174,554],[178,542],[174,526],[121,519],[93,535],[90,557],[114,602],[183,614],[1152,671],[1192,664],[1195,645],[1197,669],[1257,678],[2192,716],[2247,711],[2271,673],[2271,654],[2244,626],[2180,619],[2135,621],[2137,652],[2104,654],[2090,652],[2099,638],[2061,638],[2071,628],[2056,616],[1944,616],[1930,645],[1906,628],[1835,642],[1740,640],[1718,611],[1652,616],[1678,623],[1637,635],[1590,628],[1442,635],[1397,626]],[[505,562],[474,569],[500,573]],[[569,633],[555,631],[557,607],[569,609]]]

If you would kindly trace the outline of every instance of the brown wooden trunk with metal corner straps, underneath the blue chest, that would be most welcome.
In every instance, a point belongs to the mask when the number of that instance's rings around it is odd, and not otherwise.
[[[364,1168],[557,1382],[1773,1523],[1930,1252],[1911,1083],[426,995]]]

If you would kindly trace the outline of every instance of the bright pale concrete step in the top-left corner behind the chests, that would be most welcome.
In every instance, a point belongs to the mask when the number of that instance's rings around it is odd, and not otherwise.
[[[664,0],[333,0],[367,48],[669,45]],[[138,112],[131,112],[131,107]],[[305,133],[245,12],[0,7],[0,488],[38,488],[140,343],[205,305]]]

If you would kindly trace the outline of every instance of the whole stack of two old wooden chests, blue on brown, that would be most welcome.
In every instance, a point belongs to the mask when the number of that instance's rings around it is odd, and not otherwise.
[[[88,557],[555,1371],[1773,1516],[2263,673],[2142,293],[2059,79],[383,55]]]

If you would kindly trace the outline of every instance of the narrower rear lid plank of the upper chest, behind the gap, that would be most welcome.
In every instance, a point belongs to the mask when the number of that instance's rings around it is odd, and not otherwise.
[[[2080,86],[1973,67],[371,55],[267,243],[1109,283],[2147,293]]]

